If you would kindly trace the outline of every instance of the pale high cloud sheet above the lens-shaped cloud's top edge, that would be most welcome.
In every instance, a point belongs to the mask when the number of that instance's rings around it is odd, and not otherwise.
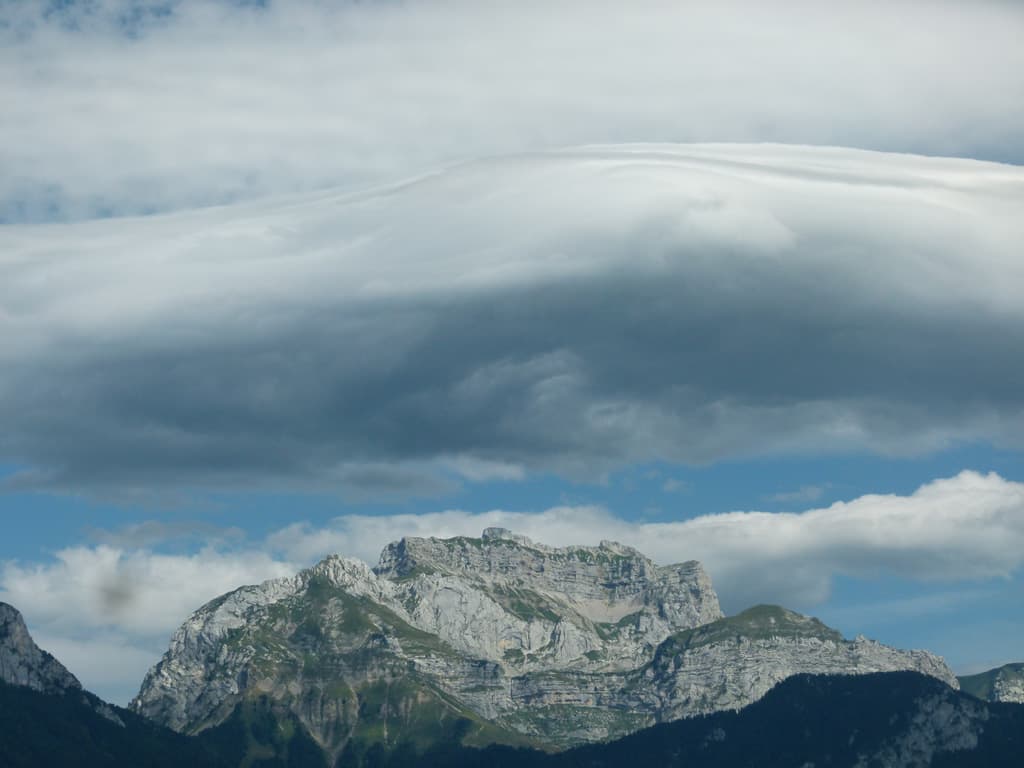
[[[593,142],[1021,163],[1022,30],[1019,4],[982,0],[4,3],[0,220]]]

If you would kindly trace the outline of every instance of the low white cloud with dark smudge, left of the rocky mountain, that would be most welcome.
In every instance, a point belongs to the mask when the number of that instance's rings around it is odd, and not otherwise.
[[[219,546],[194,554],[135,548],[146,527],[111,532],[120,546],[70,547],[45,562],[0,561],[0,600],[25,613],[36,642],[87,688],[121,705],[189,613],[244,584],[300,567],[258,548],[224,549],[229,539],[219,536]]]

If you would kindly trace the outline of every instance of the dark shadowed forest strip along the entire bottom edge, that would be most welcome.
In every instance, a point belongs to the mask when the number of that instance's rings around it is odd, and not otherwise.
[[[350,741],[335,766],[294,718],[279,717],[266,699],[247,701],[225,723],[195,737],[115,708],[124,723],[119,725],[93,709],[97,701],[88,693],[44,695],[0,685],[0,767],[610,768],[642,762],[667,768],[840,768],[898,742],[911,720],[921,721],[923,701],[938,718],[985,712],[977,748],[938,754],[934,768],[1020,768],[1024,754],[1024,706],[981,702],[909,672],[798,676],[740,712],[666,723],[557,754],[463,746],[456,728],[426,752],[412,743],[387,749]]]

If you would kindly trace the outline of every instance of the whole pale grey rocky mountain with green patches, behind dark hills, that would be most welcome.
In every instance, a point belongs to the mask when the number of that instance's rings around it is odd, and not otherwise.
[[[331,755],[442,738],[560,749],[737,709],[798,673],[897,670],[956,686],[937,656],[784,608],[726,618],[697,562],[488,528],[403,539],[374,569],[329,557],[210,602],[133,707],[190,733],[270,701]]]

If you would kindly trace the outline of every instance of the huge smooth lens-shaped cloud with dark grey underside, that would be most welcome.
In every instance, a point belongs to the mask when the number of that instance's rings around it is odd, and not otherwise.
[[[593,477],[1014,442],[1022,200],[990,164],[627,147],[93,224],[77,256],[19,229],[45,258],[15,285],[83,282],[67,314],[0,289],[38,342],[0,374],[0,453],[14,484],[378,494],[442,493],[459,456]],[[156,298],[119,325],[134,285]]]

